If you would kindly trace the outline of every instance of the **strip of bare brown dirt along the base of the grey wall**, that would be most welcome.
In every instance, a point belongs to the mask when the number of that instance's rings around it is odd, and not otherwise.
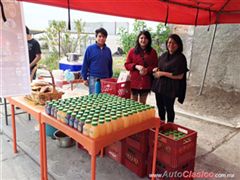
[[[199,89],[188,86],[184,104],[176,103],[177,107],[193,114],[227,120],[240,117],[240,92],[204,87],[203,94],[198,96]]]

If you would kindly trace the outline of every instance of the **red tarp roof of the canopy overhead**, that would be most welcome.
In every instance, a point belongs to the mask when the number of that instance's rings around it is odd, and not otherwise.
[[[240,0],[19,0],[172,24],[240,23]],[[69,4],[68,4],[69,2]]]

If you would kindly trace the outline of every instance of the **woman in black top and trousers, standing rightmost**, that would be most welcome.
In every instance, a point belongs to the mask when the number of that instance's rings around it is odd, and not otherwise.
[[[158,114],[162,121],[174,122],[174,102],[176,97],[183,103],[186,92],[187,60],[183,43],[177,34],[172,34],[166,41],[167,51],[158,59],[158,67],[153,69],[153,86]]]

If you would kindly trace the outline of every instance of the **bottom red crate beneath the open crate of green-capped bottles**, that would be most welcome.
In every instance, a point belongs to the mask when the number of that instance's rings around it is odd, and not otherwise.
[[[147,175],[150,178],[152,175],[152,156],[148,157],[148,164],[147,164]],[[185,177],[185,175],[189,175],[189,172],[194,172],[195,160],[189,160],[185,164],[177,168],[169,167],[168,165],[162,163],[161,161],[156,161],[156,180],[182,180],[187,179],[191,180],[193,178]],[[187,171],[187,172],[185,172]],[[185,173],[184,173],[185,172]],[[178,174],[178,176],[174,177],[174,174]]]

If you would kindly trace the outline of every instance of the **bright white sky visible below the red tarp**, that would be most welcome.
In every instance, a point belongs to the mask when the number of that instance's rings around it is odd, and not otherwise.
[[[23,2],[25,24],[34,30],[43,30],[48,27],[49,20],[68,20],[68,10],[53,6]],[[82,19],[84,22],[129,22],[130,30],[134,22],[132,18],[109,16],[97,13],[71,10],[71,21]],[[148,27],[155,28],[157,22],[145,21]]]

